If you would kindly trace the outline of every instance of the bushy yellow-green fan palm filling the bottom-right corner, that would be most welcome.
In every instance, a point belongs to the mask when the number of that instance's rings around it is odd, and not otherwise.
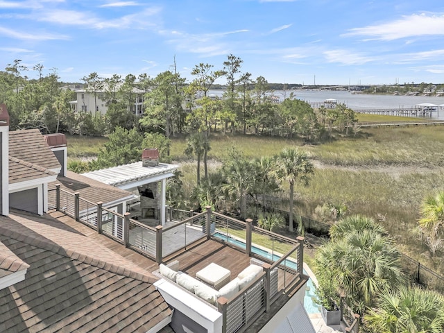
[[[444,332],[444,296],[418,287],[383,291],[364,323],[371,332]]]

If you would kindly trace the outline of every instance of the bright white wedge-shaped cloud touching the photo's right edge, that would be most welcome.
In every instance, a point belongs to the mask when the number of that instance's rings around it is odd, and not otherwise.
[[[369,40],[398,40],[400,38],[444,35],[444,15],[413,14],[393,22],[350,29],[343,36],[364,36]]]

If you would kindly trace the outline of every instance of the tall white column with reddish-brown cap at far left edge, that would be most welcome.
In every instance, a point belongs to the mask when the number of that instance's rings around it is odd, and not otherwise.
[[[0,214],[9,214],[9,114],[0,104]]]

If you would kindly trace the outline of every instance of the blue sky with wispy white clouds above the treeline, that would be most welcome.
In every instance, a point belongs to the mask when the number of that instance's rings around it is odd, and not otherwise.
[[[0,0],[0,69],[61,80],[200,62],[269,83],[444,83],[443,0]],[[218,83],[225,83],[219,80]]]

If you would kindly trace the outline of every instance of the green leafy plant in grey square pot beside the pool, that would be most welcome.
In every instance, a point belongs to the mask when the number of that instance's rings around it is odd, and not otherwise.
[[[316,287],[316,303],[321,305],[321,316],[325,325],[341,324],[341,309],[338,307],[339,296],[332,278],[320,276]]]

